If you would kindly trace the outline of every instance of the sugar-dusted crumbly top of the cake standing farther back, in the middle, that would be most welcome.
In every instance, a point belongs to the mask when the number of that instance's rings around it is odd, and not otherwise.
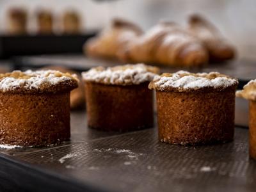
[[[84,81],[102,84],[131,85],[152,81],[159,68],[144,64],[96,67],[83,72]]]

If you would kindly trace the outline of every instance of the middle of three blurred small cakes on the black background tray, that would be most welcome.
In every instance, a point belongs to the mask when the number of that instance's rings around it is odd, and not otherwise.
[[[36,22],[38,26],[38,33],[52,33],[53,17],[50,10],[39,10],[36,13]]]

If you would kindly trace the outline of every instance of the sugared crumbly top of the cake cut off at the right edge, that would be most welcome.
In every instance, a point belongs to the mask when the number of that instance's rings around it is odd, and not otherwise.
[[[256,79],[251,80],[244,85],[243,90],[236,92],[236,96],[248,100],[256,100]]]

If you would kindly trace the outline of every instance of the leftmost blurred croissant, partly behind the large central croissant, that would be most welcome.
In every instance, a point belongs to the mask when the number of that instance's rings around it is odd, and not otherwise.
[[[117,58],[118,52],[141,34],[141,29],[135,24],[126,20],[114,19],[109,28],[104,29],[99,35],[84,44],[84,52],[89,56]]]

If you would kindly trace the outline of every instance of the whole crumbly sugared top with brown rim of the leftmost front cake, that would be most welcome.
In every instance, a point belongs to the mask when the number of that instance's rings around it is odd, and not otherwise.
[[[77,87],[76,75],[57,70],[15,70],[0,74],[0,92],[49,93],[70,91]]]

